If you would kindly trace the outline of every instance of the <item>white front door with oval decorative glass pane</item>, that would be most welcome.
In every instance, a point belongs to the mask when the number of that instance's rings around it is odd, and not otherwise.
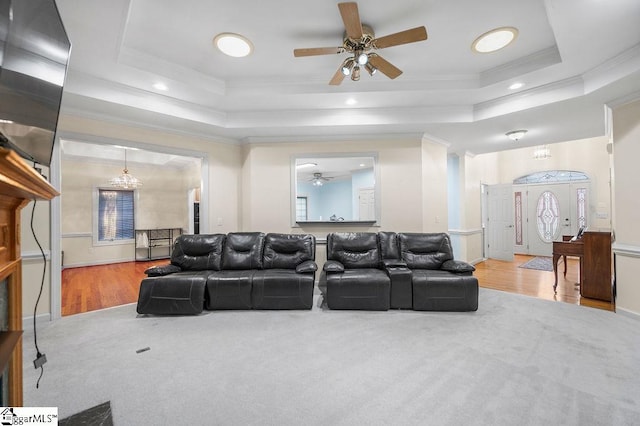
[[[572,234],[570,185],[529,185],[527,204],[529,254],[551,256],[553,241]]]

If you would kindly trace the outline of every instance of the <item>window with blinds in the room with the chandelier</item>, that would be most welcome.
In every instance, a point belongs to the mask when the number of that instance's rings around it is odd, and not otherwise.
[[[98,190],[98,241],[133,240],[133,195],[128,190]]]

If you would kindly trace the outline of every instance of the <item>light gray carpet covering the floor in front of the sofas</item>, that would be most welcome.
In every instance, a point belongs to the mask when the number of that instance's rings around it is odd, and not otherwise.
[[[486,289],[479,304],[65,317],[39,329],[40,389],[26,333],[24,403],[111,401],[115,425],[640,424],[640,321]]]

